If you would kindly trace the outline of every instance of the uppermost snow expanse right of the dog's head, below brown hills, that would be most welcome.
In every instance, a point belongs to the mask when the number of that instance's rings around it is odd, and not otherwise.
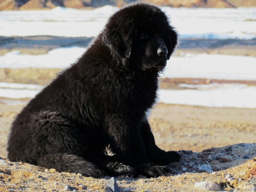
[[[181,38],[256,38],[256,8],[170,8],[162,10]]]

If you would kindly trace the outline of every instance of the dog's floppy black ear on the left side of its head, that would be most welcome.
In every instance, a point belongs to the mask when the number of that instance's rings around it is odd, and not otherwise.
[[[102,34],[102,41],[110,48],[112,53],[127,59],[132,52],[133,37],[132,25],[107,25]]]

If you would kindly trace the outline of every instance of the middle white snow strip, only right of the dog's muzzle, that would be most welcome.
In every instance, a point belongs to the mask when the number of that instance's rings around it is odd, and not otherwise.
[[[256,80],[256,57],[185,54],[171,57],[161,75],[168,78]]]

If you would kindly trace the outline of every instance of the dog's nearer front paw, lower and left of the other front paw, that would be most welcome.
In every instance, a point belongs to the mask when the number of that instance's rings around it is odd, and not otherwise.
[[[140,174],[143,174],[147,177],[159,177],[166,175],[169,172],[170,170],[166,167],[151,163],[143,164],[142,168],[140,169]]]

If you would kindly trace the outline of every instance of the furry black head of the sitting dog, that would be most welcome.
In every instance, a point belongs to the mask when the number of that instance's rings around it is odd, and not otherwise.
[[[138,3],[109,19],[102,40],[112,54],[140,63],[142,70],[161,70],[176,48],[177,33],[159,8]]]

